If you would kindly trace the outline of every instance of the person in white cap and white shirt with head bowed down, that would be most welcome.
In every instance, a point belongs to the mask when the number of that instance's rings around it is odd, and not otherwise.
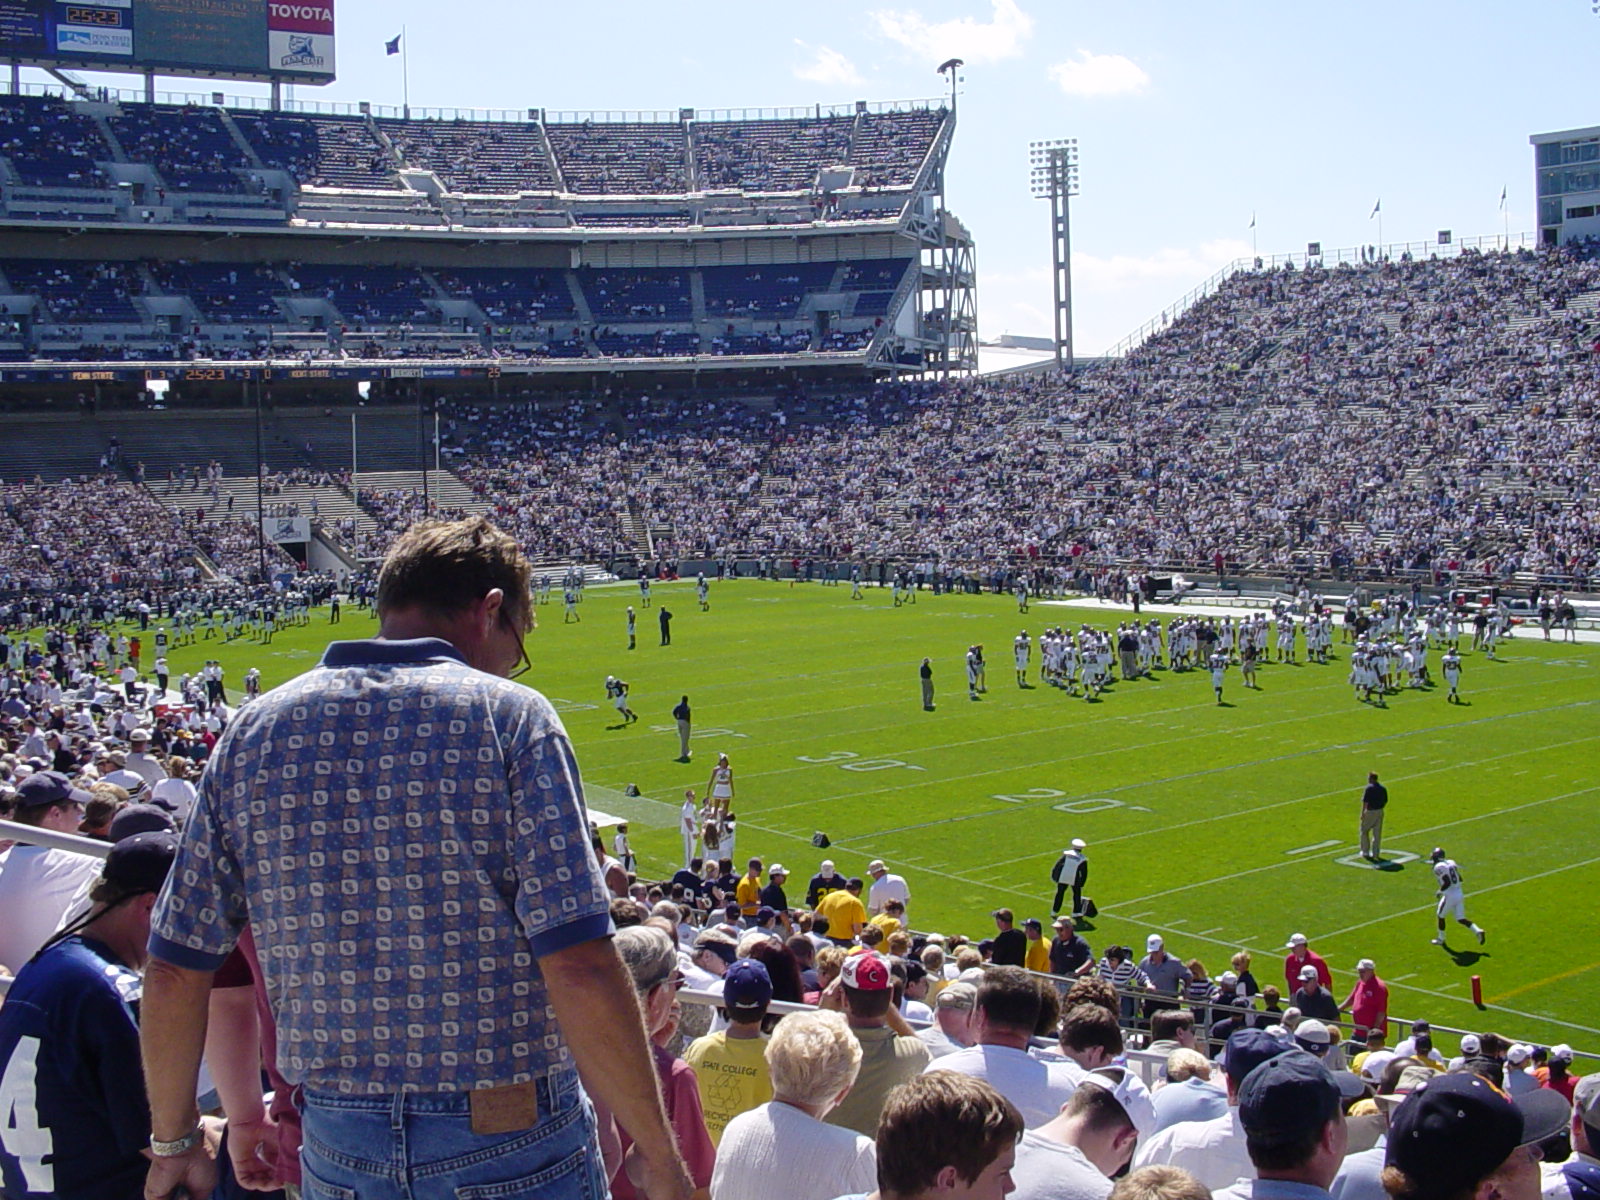
[[[1061,1112],[1022,1134],[1013,1200],[1104,1200],[1112,1176],[1155,1131],[1150,1093],[1126,1067],[1090,1072]]]

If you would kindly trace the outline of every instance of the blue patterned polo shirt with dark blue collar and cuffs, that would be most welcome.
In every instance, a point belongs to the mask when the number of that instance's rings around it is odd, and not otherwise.
[[[542,696],[437,638],[334,642],[218,742],[150,954],[214,970],[248,922],[318,1091],[568,1070],[538,958],[613,931],[587,819]]]

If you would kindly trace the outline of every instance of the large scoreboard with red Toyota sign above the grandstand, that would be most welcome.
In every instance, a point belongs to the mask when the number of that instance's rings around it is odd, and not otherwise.
[[[0,61],[333,82],[334,0],[0,0]]]

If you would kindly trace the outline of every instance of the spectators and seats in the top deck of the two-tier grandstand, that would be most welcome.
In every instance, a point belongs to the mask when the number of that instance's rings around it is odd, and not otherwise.
[[[254,158],[299,186],[398,192],[397,166],[434,171],[451,194],[672,195],[699,190],[811,192],[829,166],[858,187],[906,187],[944,122],[942,109],[773,120],[480,122],[302,117],[237,110]],[[200,106],[122,104],[110,130],[133,162],[162,176],[160,195],[256,190],[254,166],[222,114]],[[26,184],[104,187],[114,157],[94,120],[45,96],[0,99],[0,154]],[[693,174],[690,165],[693,163]]]

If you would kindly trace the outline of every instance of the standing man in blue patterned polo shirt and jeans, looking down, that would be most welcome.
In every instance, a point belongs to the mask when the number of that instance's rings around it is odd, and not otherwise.
[[[571,744],[526,669],[528,562],[482,517],[402,534],[379,637],[218,742],[150,933],[147,1200],[208,1195],[195,1072],[250,925],[301,1088],[304,1195],[603,1195],[594,1098],[650,1200],[690,1181],[611,944]]]

